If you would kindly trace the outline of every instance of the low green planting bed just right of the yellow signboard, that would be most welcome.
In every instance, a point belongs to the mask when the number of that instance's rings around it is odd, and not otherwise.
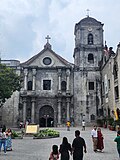
[[[40,130],[39,133],[37,134],[34,134],[35,137],[39,137],[39,138],[42,138],[42,137],[59,137],[60,133],[58,131],[55,131],[53,129],[43,129],[43,130]]]

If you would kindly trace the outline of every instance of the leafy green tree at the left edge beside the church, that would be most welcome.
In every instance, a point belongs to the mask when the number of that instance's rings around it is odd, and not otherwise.
[[[16,90],[20,90],[20,76],[14,69],[0,64],[0,101],[5,102]]]

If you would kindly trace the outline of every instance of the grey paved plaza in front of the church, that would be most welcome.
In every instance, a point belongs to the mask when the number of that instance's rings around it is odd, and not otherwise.
[[[13,151],[7,152],[6,155],[2,152],[0,160],[48,160],[51,146],[53,144],[60,145],[64,136],[67,136],[69,142],[72,143],[74,139],[74,131],[76,129],[81,131],[81,127],[73,127],[70,131],[66,131],[66,128],[55,129],[60,131],[59,138],[38,140],[33,139],[32,137],[24,137],[22,140],[13,140]],[[87,143],[87,153],[84,154],[84,160],[118,160],[116,143],[113,141],[116,136],[116,132],[109,131],[108,129],[102,129],[105,149],[103,153],[94,153],[92,150],[92,140],[90,136],[91,129],[92,128],[88,127],[86,128],[86,131],[81,131],[81,136]]]

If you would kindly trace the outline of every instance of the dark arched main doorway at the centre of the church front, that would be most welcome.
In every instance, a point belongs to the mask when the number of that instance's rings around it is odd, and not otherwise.
[[[39,125],[40,127],[54,126],[54,110],[51,106],[45,105],[39,110]]]

